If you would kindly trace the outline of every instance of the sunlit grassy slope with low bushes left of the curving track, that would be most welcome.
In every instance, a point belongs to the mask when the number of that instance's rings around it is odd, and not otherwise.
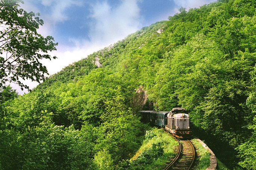
[[[174,158],[178,142],[163,129],[147,131],[141,148],[130,160],[120,161],[118,170],[162,170]]]

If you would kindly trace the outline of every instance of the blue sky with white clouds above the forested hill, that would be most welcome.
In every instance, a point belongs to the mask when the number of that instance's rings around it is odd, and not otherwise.
[[[43,36],[53,36],[57,50],[49,52],[55,60],[42,60],[50,75],[65,66],[124,39],[127,35],[155,22],[168,20],[216,0],[23,0],[21,8],[39,12],[44,25],[38,29]],[[25,81],[33,89],[36,82]],[[19,94],[18,85],[12,84]]]

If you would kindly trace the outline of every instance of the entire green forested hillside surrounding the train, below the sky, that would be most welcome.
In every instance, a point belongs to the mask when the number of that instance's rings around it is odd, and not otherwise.
[[[132,169],[138,110],[175,107],[225,166],[256,169],[255,64],[255,0],[181,8],[28,94],[1,90],[0,169]]]

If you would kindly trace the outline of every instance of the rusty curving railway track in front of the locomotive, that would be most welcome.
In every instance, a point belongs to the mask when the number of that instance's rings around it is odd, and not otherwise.
[[[195,148],[191,141],[175,138],[179,142],[178,153],[164,170],[190,170],[195,160]]]

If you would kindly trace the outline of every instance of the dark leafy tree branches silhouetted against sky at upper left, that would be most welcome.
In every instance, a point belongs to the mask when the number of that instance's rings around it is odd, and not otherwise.
[[[29,87],[22,79],[44,80],[47,69],[40,59],[55,59],[47,54],[56,50],[52,36],[44,38],[37,33],[43,20],[39,13],[26,12],[19,8],[22,0],[0,0],[0,87],[6,81],[18,83],[21,89]],[[43,54],[42,54],[43,52]]]

